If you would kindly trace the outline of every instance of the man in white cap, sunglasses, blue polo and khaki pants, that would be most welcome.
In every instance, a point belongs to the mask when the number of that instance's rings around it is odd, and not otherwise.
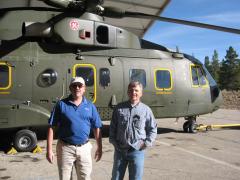
[[[70,180],[75,165],[78,180],[90,180],[92,171],[92,145],[89,142],[93,129],[97,143],[95,159],[102,156],[101,119],[96,107],[83,95],[85,81],[82,77],[72,78],[69,85],[71,95],[59,101],[49,119],[47,137],[47,160],[53,163],[52,142],[54,127],[58,129],[57,164],[60,180]]]

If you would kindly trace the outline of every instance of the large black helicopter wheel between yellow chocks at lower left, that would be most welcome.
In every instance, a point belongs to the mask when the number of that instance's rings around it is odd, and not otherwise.
[[[14,137],[13,145],[19,152],[30,152],[37,145],[37,136],[28,129],[20,130]]]

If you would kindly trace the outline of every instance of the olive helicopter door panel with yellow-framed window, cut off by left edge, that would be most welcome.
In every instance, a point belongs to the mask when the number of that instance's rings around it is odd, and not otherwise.
[[[28,61],[0,62],[0,125],[21,127],[24,107],[32,100],[32,67]]]

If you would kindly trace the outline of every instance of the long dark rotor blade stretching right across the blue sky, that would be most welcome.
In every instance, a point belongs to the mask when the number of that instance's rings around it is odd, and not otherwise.
[[[205,24],[200,22],[186,21],[181,19],[167,18],[162,16],[155,16],[155,15],[145,14],[140,12],[128,12],[128,11],[124,11],[124,10],[113,8],[113,7],[104,7],[104,12],[102,15],[107,17],[112,17],[112,18],[132,17],[132,18],[143,18],[143,19],[155,19],[155,20],[164,21],[164,22],[184,24],[188,26],[195,26],[195,27],[200,27],[205,29],[212,29],[217,31],[240,34],[239,29],[216,26],[216,25]]]

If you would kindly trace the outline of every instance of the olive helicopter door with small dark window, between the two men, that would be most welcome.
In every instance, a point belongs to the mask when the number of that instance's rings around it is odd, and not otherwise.
[[[102,120],[112,118],[113,108],[123,100],[123,68],[116,57],[94,57],[97,71],[97,100],[95,105]]]

